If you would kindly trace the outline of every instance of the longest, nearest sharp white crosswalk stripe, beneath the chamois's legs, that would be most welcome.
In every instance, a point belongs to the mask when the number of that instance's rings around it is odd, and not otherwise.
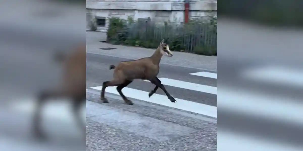
[[[102,86],[97,86],[97,87],[92,87],[92,88],[96,89],[96,90],[102,90]],[[117,88],[117,86],[107,87],[105,89],[105,92],[119,95],[116,88]],[[210,106],[210,105],[206,105],[206,104],[182,100],[182,99],[178,99],[178,98],[175,98],[177,102],[172,103],[165,95],[154,94],[149,98],[148,97],[149,92],[145,92],[145,91],[141,91],[141,90],[137,90],[137,89],[133,89],[133,88],[127,88],[127,87],[123,88],[122,92],[124,93],[124,95],[126,97],[129,97],[129,98],[135,98],[135,99],[142,100],[142,101],[147,101],[147,102],[151,102],[151,103],[155,103],[155,104],[168,106],[171,108],[177,108],[180,110],[190,111],[190,112],[217,118],[217,107],[215,107],[215,106]]]

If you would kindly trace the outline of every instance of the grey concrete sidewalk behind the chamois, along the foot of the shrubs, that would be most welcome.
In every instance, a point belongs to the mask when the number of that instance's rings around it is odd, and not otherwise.
[[[86,48],[88,53],[100,54],[105,56],[115,56],[126,59],[140,59],[151,56],[155,49],[141,47],[128,47],[122,45],[112,45],[99,41],[106,40],[106,33],[86,31]],[[159,40],[160,43],[161,40]],[[99,48],[112,47],[113,50],[101,50]],[[195,69],[205,69],[217,71],[217,56],[202,56],[192,53],[173,52],[171,58],[162,57],[161,64],[184,66]]]

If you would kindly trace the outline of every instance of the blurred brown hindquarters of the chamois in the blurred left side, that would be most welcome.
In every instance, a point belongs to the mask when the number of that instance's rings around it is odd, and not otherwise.
[[[49,98],[68,97],[72,99],[73,114],[78,126],[86,131],[86,124],[80,118],[80,107],[86,100],[86,45],[80,45],[70,56],[56,56],[63,63],[61,87],[38,93],[37,107],[33,118],[33,133],[39,139],[46,139],[40,129],[41,109]],[[58,58],[59,57],[59,58]]]

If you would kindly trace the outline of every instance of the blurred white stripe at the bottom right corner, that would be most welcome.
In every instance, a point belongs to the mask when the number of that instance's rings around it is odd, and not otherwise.
[[[245,151],[301,151],[299,147],[289,145],[287,143],[273,142],[261,137],[253,137],[239,133],[228,132],[228,130],[220,130],[217,134],[220,140],[218,150],[245,150]]]

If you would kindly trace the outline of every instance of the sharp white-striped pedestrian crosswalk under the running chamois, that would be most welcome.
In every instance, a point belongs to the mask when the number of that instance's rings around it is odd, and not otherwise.
[[[189,73],[189,75],[217,79],[217,73],[211,73],[211,72],[196,72],[196,73]],[[185,82],[185,81],[169,79],[169,78],[159,78],[159,79],[163,85],[217,95],[217,87],[201,85],[201,84]],[[145,81],[148,82],[147,80]],[[105,89],[105,92],[119,95],[116,87],[117,86],[107,87]],[[92,89],[101,91],[102,86],[92,87]],[[168,100],[166,95],[154,94],[149,98],[148,97],[149,92],[138,90],[135,88],[125,87],[122,89],[122,92],[128,98],[134,98],[142,101],[168,106],[171,108],[177,108],[184,111],[189,111],[189,112],[203,114],[209,117],[217,118],[217,107],[215,106],[201,104],[201,103],[179,99],[179,98],[175,98],[177,102],[171,103],[171,101]]]

